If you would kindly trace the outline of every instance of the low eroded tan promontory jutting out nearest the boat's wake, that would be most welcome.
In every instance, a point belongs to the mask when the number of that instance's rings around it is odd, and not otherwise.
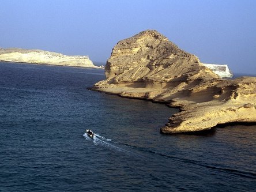
[[[205,91],[207,89],[210,91]],[[183,106],[182,112],[173,115],[161,131],[186,133],[187,130],[201,131],[223,123],[256,122],[255,77],[213,82],[199,92],[192,91],[190,99],[195,100],[198,97],[209,97],[209,99],[186,105],[187,98],[176,99],[174,103]]]

